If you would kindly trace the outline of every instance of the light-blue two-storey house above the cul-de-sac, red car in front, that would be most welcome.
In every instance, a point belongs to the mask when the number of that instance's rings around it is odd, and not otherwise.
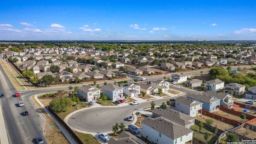
[[[102,87],[102,93],[107,96],[110,100],[123,99],[123,88],[114,84],[107,84]]]

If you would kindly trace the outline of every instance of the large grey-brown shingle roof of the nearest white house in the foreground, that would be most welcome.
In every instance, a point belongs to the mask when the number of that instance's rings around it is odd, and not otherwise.
[[[193,130],[190,130],[189,128],[186,128],[184,126],[173,124],[172,122],[167,121],[163,117],[145,118],[142,121],[142,124],[146,124],[147,126],[154,128],[154,130],[164,134],[165,136],[168,136],[172,140],[194,132]]]

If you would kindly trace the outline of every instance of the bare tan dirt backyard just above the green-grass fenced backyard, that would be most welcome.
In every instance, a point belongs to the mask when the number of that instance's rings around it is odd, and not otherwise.
[[[196,116],[196,120],[200,120],[201,122],[204,122],[204,123],[206,123],[206,119],[212,119],[214,121],[212,126],[217,126],[218,129],[220,129],[220,130],[226,131],[226,130],[230,130],[235,127],[234,125],[228,124],[226,122],[222,122],[222,121],[214,119],[210,116]]]

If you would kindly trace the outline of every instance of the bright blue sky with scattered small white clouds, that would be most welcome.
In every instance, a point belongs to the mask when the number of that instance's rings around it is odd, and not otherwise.
[[[256,40],[255,0],[0,0],[0,40]]]

